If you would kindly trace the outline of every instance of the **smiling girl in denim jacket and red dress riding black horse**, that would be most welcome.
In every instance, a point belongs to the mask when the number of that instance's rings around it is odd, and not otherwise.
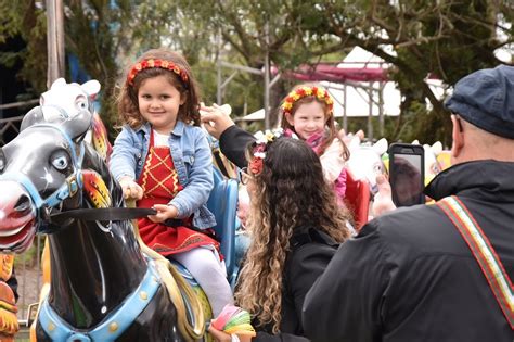
[[[233,296],[211,236],[216,221],[206,207],[213,157],[198,109],[196,84],[183,56],[164,49],[145,52],[121,88],[124,126],[110,168],[127,199],[157,212],[138,221],[143,242],[188,268],[218,315]]]

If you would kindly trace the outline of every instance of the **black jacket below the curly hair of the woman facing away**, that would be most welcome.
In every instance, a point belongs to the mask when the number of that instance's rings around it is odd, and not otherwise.
[[[312,283],[335,254],[337,243],[314,228],[298,228],[291,240],[283,271],[281,333],[272,335],[271,327],[256,327],[252,341],[309,341],[304,335],[301,307]]]

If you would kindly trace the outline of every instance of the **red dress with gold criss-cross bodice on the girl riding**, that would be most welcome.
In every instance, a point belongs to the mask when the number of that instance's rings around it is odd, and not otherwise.
[[[138,207],[152,207],[154,204],[167,204],[183,187],[175,169],[169,147],[154,147],[153,131],[150,137],[150,150],[143,170],[138,179],[143,188],[143,198],[137,202]],[[183,219],[183,226],[169,227],[151,221],[147,217],[138,220],[139,232],[143,242],[152,250],[167,256],[190,251],[201,245],[214,245],[219,250],[219,242],[209,236],[194,231],[191,217]]]

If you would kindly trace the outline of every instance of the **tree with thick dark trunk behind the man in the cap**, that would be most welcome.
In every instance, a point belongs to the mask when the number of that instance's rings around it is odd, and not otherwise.
[[[449,117],[425,83],[435,75],[453,85],[464,75],[500,63],[494,50],[512,45],[514,5],[511,1],[325,1],[317,15],[323,25],[310,27],[331,34],[343,47],[359,46],[395,67],[390,76],[404,100],[393,140],[450,141]],[[499,39],[499,36],[505,37]],[[387,52],[393,46],[396,53]],[[433,106],[424,110],[425,99]],[[400,137],[404,124],[414,125]]]

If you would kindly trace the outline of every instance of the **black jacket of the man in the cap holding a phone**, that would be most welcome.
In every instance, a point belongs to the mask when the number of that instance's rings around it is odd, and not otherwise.
[[[457,194],[514,276],[514,163],[455,165],[425,192]],[[313,341],[509,341],[514,333],[467,244],[437,205],[383,215],[345,242],[304,305]]]

